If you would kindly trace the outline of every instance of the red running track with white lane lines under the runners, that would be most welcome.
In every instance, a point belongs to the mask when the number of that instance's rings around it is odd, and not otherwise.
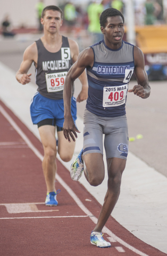
[[[45,206],[41,169],[43,147],[0,101],[0,255],[1,256],[163,256],[140,241],[115,219],[106,223],[104,239],[111,247],[90,244],[101,205],[57,160],[57,207]]]

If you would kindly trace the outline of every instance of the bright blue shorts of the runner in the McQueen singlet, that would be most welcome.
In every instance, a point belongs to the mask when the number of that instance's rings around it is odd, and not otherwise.
[[[64,103],[63,99],[61,100],[53,100],[48,99],[42,96],[39,92],[37,92],[31,100],[30,105],[30,113],[33,124],[38,124],[43,120],[52,119],[53,124],[59,128],[63,127],[64,123]],[[75,122],[77,119],[77,105],[76,99],[72,97],[71,99],[71,114],[73,121]],[[46,123],[49,124],[49,123]],[[39,126],[38,126],[39,127]]]

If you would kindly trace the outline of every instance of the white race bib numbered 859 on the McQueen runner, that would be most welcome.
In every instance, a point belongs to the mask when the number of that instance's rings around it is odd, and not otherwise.
[[[67,72],[46,74],[46,85],[48,92],[59,92],[64,89],[64,79]]]

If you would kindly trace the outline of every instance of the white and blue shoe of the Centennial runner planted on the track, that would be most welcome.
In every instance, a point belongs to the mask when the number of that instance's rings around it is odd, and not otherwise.
[[[90,243],[101,248],[111,247],[111,243],[105,241],[103,239],[103,234],[99,232],[91,232]]]

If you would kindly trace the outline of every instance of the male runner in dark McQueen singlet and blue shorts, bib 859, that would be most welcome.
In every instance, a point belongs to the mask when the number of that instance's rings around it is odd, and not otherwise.
[[[36,83],[38,92],[31,101],[30,112],[34,124],[38,125],[41,142],[44,147],[43,171],[47,187],[46,205],[57,205],[55,174],[56,153],[65,162],[71,160],[75,142],[68,143],[63,136],[64,106],[63,87],[65,75],[77,60],[79,55],[78,44],[67,37],[60,35],[62,26],[62,10],[54,5],[44,8],[41,14],[41,24],[44,25],[44,36],[31,44],[23,55],[16,79],[21,84],[31,81],[31,74],[27,74],[34,62],[36,67]],[[82,90],[77,101],[87,99],[86,72],[80,77]],[[71,93],[71,113],[76,121],[76,99]],[[57,127],[58,149],[56,150],[55,126]]]

